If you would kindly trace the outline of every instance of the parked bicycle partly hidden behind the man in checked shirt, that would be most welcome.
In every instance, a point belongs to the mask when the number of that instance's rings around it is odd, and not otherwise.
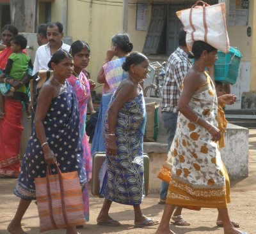
[[[152,83],[145,87],[143,94],[150,98],[163,98],[163,83],[164,83],[164,66],[166,62],[160,64],[159,62],[151,62],[150,68],[154,69],[155,74]],[[155,83],[156,82],[156,83]]]

